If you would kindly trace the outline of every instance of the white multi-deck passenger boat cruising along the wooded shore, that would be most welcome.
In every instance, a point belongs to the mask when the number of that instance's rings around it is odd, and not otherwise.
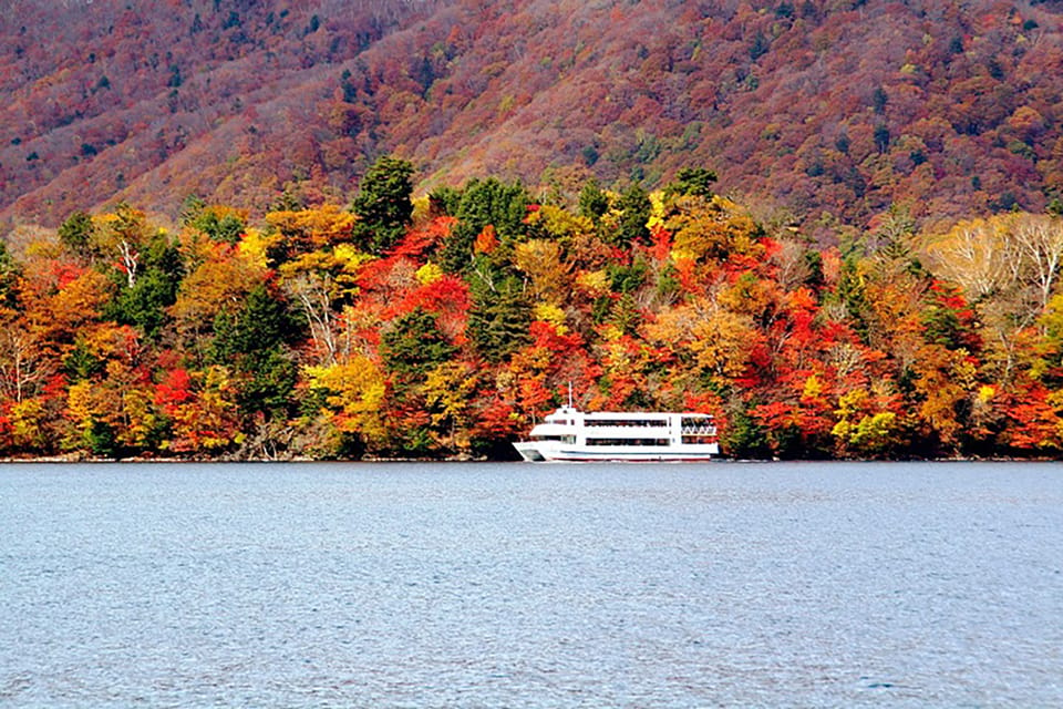
[[[526,461],[706,461],[720,455],[705,413],[584,412],[561,407],[513,444]]]

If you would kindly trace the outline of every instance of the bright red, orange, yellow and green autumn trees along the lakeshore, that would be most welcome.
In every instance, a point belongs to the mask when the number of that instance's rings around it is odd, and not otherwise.
[[[508,458],[563,403],[715,415],[734,458],[1063,451],[1063,218],[823,247],[716,193],[487,176],[74,212],[0,254],[7,458]]]

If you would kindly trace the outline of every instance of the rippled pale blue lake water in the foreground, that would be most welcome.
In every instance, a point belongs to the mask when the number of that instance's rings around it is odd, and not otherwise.
[[[1063,466],[0,465],[0,707],[1063,706]]]

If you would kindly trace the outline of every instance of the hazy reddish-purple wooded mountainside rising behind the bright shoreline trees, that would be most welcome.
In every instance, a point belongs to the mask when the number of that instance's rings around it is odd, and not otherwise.
[[[1063,188],[1061,2],[4,4],[8,223],[342,201],[383,153],[568,196],[699,164],[826,240]]]

